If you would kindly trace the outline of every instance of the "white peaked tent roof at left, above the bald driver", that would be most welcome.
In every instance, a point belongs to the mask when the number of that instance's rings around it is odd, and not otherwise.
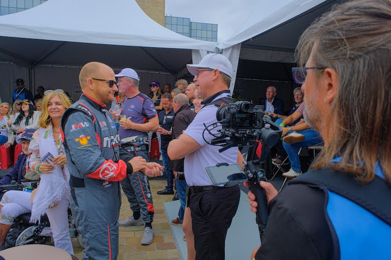
[[[27,39],[208,51],[215,51],[216,44],[158,25],[132,0],[49,0],[0,17],[0,32]]]

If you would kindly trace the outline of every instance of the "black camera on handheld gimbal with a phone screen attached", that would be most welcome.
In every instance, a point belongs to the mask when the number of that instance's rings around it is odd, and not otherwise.
[[[264,115],[264,106],[255,106],[248,101],[238,101],[234,104],[222,105],[217,109],[217,122],[206,126],[205,131],[215,137],[212,145],[222,146],[219,152],[231,147],[249,146],[255,151],[255,144],[259,140],[262,144],[261,158],[247,160],[243,171],[238,164],[218,163],[214,167],[207,167],[205,171],[215,185],[233,185],[239,181],[248,180],[250,190],[258,201],[256,221],[260,230],[261,241],[267,224],[267,200],[265,191],[259,182],[266,180],[265,166],[270,148],[277,144],[282,135],[282,128],[275,124],[269,116]],[[212,127],[212,128],[211,128]],[[221,127],[221,129],[219,129]],[[217,129],[212,133],[214,129]]]

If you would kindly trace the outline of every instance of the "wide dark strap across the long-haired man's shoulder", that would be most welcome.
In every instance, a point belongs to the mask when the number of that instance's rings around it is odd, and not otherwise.
[[[353,175],[326,168],[310,170],[288,182],[288,185],[293,184],[327,188],[357,203],[391,225],[391,187],[386,180],[377,175],[371,182],[362,183],[356,180]]]

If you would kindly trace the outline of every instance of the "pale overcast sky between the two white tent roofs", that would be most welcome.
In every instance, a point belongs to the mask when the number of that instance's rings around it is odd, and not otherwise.
[[[231,36],[260,0],[166,0],[166,15],[190,18],[194,22],[217,23],[218,40]],[[227,4],[228,3],[228,4]]]

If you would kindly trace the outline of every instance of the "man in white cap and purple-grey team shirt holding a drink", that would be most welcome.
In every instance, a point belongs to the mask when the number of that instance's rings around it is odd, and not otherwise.
[[[121,116],[126,116],[126,119],[121,118],[119,122],[119,138],[126,144],[121,146],[134,156],[141,156],[149,161],[147,132],[157,131],[159,127],[153,101],[139,91],[140,78],[133,69],[125,68],[115,77],[118,78],[119,93],[126,96],[121,111]],[[143,225],[145,222],[141,244],[148,245],[152,243],[154,235],[154,210],[148,177],[142,172],[137,172],[122,180],[121,186],[133,215],[126,220],[120,220],[119,225]]]

